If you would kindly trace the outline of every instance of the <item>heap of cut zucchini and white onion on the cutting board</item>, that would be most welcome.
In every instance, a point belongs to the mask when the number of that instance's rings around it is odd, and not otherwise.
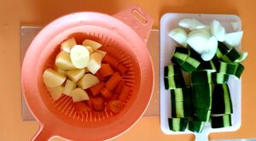
[[[168,35],[182,47],[175,48],[173,64],[164,69],[165,88],[171,92],[170,130],[183,132],[188,126],[201,133],[208,121],[212,128],[230,127],[233,108],[227,82],[230,76],[240,79],[244,71],[241,62],[247,52],[236,49],[243,32],[226,33],[218,20],[204,25],[183,19],[178,25]]]

